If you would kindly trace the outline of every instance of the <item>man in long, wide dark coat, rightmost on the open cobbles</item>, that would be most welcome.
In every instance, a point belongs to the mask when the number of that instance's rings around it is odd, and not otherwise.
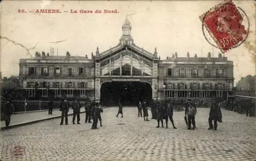
[[[209,128],[217,130],[217,121],[222,122],[222,114],[221,114],[221,109],[220,106],[216,103],[216,100],[212,100],[212,105],[210,107],[210,113],[209,113]],[[212,125],[212,120],[214,120],[214,126]]]

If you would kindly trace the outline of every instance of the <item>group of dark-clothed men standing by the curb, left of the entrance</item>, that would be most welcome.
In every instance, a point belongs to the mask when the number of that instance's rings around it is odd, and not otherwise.
[[[63,125],[64,117],[65,117],[65,123],[68,125],[68,112],[69,112],[69,102],[67,97],[63,97],[61,103],[60,103],[60,111],[61,111],[61,121],[60,125]],[[80,124],[80,109],[81,104],[80,102],[75,99],[72,103],[72,109],[73,109],[73,124],[75,124],[75,119],[77,118],[77,124]],[[86,110],[86,120],[85,123],[91,123],[91,120],[93,120],[92,129],[97,129],[98,120],[100,121],[100,126],[102,126],[102,119],[100,113],[103,113],[102,106],[99,103],[95,103],[92,101],[87,101],[85,105]]]

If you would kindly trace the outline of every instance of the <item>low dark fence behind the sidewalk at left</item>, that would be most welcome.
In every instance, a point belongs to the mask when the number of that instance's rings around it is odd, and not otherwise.
[[[60,108],[61,101],[53,101],[53,109]],[[4,105],[4,101],[1,100],[1,108]],[[27,112],[27,111],[37,111],[37,110],[48,110],[49,101],[43,100],[12,100],[15,112]],[[80,101],[81,106],[83,106],[85,101]],[[72,102],[69,101],[72,105]]]

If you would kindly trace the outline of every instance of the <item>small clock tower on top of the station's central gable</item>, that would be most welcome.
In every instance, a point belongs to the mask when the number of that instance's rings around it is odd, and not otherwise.
[[[122,25],[122,37],[120,39],[121,45],[132,45],[133,44],[133,38],[131,36],[131,22],[125,18],[123,25]]]

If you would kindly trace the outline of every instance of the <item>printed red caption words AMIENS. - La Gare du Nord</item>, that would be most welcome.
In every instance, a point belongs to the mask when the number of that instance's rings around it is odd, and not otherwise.
[[[65,11],[67,12],[67,11]],[[36,13],[61,13],[60,10],[39,10],[37,9],[36,10]],[[107,10],[107,9],[104,9],[104,10],[83,10],[83,9],[80,9],[80,10],[74,10],[74,9],[70,9],[70,13],[119,13],[119,11],[117,9],[115,10]]]

